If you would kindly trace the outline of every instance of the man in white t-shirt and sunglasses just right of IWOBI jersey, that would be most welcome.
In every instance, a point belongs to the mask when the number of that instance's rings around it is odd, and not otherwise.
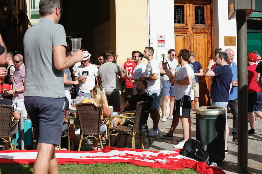
[[[137,63],[137,66],[135,66],[133,70],[133,78],[129,79],[131,83],[133,83],[133,96],[138,94],[136,90],[136,84],[141,76],[145,76],[146,66],[142,63],[143,54],[140,51],[133,51],[133,60],[135,63]]]

